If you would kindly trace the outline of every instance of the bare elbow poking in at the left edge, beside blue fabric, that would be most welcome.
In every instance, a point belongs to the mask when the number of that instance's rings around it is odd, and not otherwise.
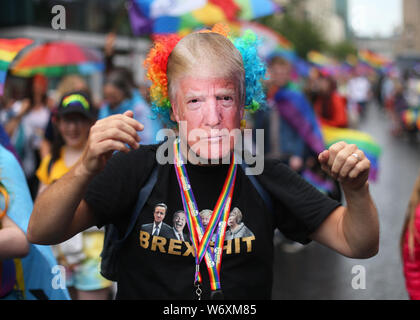
[[[25,233],[10,219],[4,216],[3,228],[0,229],[0,261],[23,258],[29,252],[29,243]]]

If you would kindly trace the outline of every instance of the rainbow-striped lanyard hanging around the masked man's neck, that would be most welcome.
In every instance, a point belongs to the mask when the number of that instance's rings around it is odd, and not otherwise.
[[[185,215],[187,217],[187,225],[190,230],[191,241],[195,250],[196,271],[194,276],[194,283],[200,284],[202,282],[200,275],[200,262],[204,258],[210,278],[210,287],[212,291],[221,290],[220,286],[220,266],[222,262],[223,242],[225,239],[225,232],[227,227],[227,220],[229,218],[230,206],[232,203],[233,189],[236,179],[236,164],[234,154],[232,154],[232,161],[223,185],[222,192],[214,207],[213,214],[210,218],[207,229],[204,230],[201,218],[199,215],[197,202],[195,201],[192,192],[191,184],[188,179],[187,170],[182,160],[182,155],[179,150],[179,138],[174,141],[174,166],[178,178],[178,183],[181,191],[182,204],[184,206]],[[221,222],[219,223],[219,221]],[[213,233],[216,232],[214,250],[209,246]],[[201,289],[199,289],[201,291]],[[197,293],[200,296],[199,293]]]

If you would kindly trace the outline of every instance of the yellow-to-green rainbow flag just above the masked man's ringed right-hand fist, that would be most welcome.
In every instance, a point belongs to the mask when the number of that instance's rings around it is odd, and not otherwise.
[[[362,150],[366,157],[370,160],[371,169],[369,179],[371,181],[377,180],[379,171],[378,163],[382,150],[379,144],[369,134],[358,130],[336,128],[325,125],[322,126],[322,134],[326,148],[329,148],[331,145],[339,141],[357,145],[357,147]]]

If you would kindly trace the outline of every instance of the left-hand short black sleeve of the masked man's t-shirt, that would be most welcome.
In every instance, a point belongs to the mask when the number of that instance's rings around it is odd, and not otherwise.
[[[149,146],[125,154],[117,152],[105,169],[89,184],[84,200],[92,210],[97,227],[125,225],[155,161]]]

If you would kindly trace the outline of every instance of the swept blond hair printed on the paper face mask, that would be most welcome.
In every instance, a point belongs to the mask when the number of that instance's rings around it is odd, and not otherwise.
[[[236,84],[240,106],[245,104],[245,69],[241,53],[225,36],[197,32],[182,38],[168,59],[168,94],[174,100],[177,82],[185,76],[228,78]]]

